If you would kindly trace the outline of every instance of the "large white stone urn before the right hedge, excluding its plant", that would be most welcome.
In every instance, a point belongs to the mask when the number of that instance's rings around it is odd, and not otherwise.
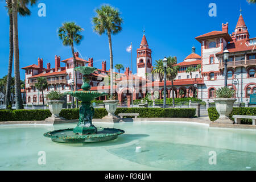
[[[236,98],[214,98],[213,101],[216,105],[216,110],[218,114],[220,114],[220,118],[218,118],[215,122],[217,123],[230,123],[233,124],[233,121],[229,119],[229,114],[233,110],[234,102]]]

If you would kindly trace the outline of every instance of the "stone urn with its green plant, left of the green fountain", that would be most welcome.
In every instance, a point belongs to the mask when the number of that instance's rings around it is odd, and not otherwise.
[[[65,120],[65,118],[60,117],[60,111],[62,109],[64,101],[61,100],[63,94],[58,91],[50,91],[47,95],[47,103],[49,105],[49,110],[51,111],[52,115],[49,118],[46,118],[46,121],[60,121]]]

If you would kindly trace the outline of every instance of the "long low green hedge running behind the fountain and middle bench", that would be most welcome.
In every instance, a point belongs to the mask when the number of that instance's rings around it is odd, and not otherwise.
[[[139,113],[141,118],[192,118],[196,114],[196,109],[163,109],[163,108],[117,108],[115,114],[119,113]],[[105,108],[95,109],[93,118],[101,119],[108,112]],[[0,110],[0,121],[43,121],[51,116],[49,110]],[[66,119],[78,119],[79,109],[63,109],[60,117]]]

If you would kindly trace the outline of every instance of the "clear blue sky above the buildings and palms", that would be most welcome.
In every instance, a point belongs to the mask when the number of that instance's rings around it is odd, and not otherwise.
[[[130,67],[130,53],[126,47],[133,42],[133,70],[136,72],[135,49],[141,43],[143,28],[152,49],[153,64],[155,60],[166,56],[177,56],[178,62],[191,53],[195,45],[196,53],[201,55],[200,44],[196,36],[213,30],[221,31],[221,23],[229,22],[229,34],[234,30],[240,15],[249,29],[250,38],[256,36],[255,10],[246,0],[240,1],[84,1],[84,0],[43,0],[46,4],[46,17],[39,17],[39,8],[31,8],[31,16],[18,18],[20,68],[37,64],[38,57],[55,66],[55,55],[61,60],[72,57],[71,48],[64,47],[57,36],[61,23],[75,21],[84,31],[84,39],[76,49],[84,59],[93,57],[94,67],[101,68],[101,61],[107,61],[109,69],[109,45],[106,35],[98,36],[92,29],[92,17],[95,9],[103,3],[117,7],[124,20],[123,30],[112,37],[114,64],[121,63]],[[209,3],[216,3],[217,16],[210,17]],[[9,17],[5,9],[5,1],[0,0],[1,42],[0,42],[0,77],[7,75],[9,61]],[[61,63],[61,66],[64,66]],[[24,71],[20,71],[24,79]]]

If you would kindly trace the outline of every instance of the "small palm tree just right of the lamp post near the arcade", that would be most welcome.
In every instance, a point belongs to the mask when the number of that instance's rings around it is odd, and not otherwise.
[[[177,64],[177,60],[174,57],[167,57],[167,79],[171,80],[172,83],[172,107],[174,108],[175,106],[175,97],[174,97],[174,79],[177,76],[177,72],[179,71],[179,65]]]

